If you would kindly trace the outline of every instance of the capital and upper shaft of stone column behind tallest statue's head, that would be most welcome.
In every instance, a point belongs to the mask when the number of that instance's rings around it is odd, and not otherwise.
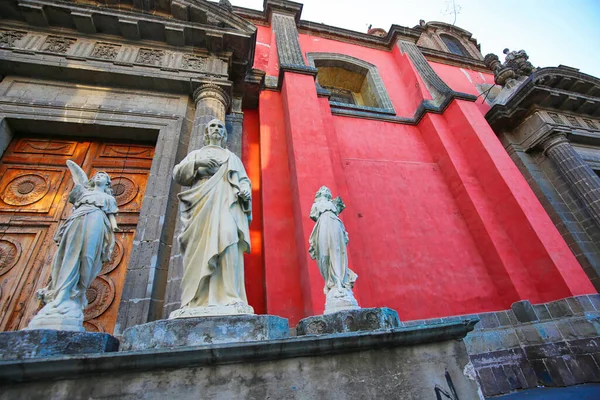
[[[190,137],[188,152],[197,150],[204,145],[204,126],[213,118],[225,122],[225,115],[229,109],[231,97],[220,86],[207,83],[194,91],[196,113],[194,126]]]

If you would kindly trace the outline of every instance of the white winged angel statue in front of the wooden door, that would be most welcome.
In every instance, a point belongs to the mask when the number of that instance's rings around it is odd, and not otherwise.
[[[45,306],[26,329],[83,331],[86,291],[115,246],[118,208],[110,177],[101,171],[88,180],[73,161],[67,166],[75,183],[69,193],[73,211],[54,236],[58,250],[50,283],[37,292]]]

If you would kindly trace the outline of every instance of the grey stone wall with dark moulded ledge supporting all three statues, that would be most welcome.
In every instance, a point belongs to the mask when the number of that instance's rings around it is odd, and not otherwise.
[[[472,324],[457,323],[118,352],[26,366],[0,362],[0,400],[480,400],[460,340],[470,329]]]

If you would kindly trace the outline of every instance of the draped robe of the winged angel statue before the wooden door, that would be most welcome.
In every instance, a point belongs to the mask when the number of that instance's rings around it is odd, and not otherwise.
[[[56,232],[59,244],[52,262],[52,280],[42,289],[46,302],[73,299],[87,307],[85,292],[110,259],[115,235],[108,214],[118,212],[115,198],[76,184],[69,193],[73,212]]]

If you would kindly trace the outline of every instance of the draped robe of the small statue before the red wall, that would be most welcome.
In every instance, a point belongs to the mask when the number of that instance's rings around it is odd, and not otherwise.
[[[327,294],[331,289],[352,289],[358,276],[348,268],[348,233],[336,205],[325,198],[317,199],[310,218],[317,223],[310,234],[308,251],[325,280],[323,291]]]

